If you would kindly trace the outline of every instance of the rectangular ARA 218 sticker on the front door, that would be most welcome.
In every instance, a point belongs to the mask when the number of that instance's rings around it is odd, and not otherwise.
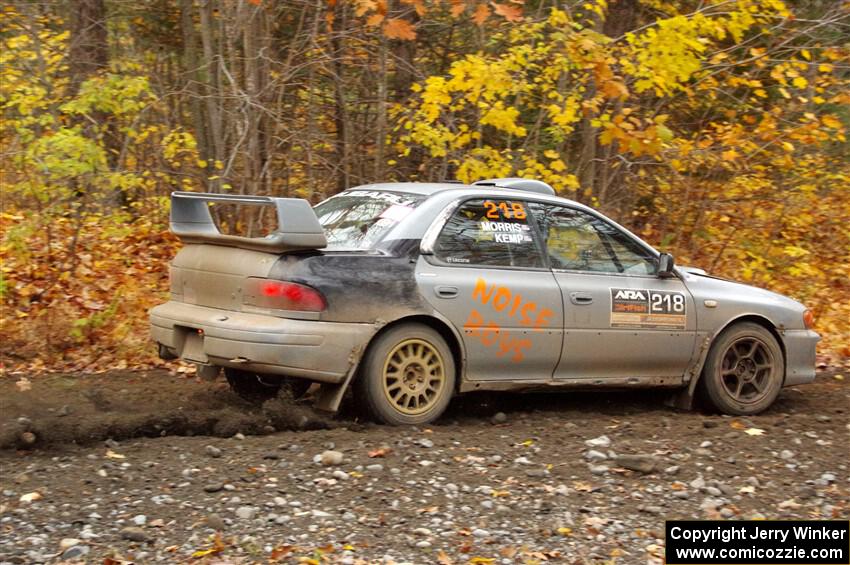
[[[611,327],[685,329],[685,294],[643,288],[611,289]]]

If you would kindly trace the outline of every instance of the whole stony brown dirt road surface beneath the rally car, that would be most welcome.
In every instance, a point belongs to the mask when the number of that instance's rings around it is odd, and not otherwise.
[[[562,393],[428,428],[163,372],[0,379],[0,563],[660,563],[665,519],[850,516],[839,373],[751,418]]]

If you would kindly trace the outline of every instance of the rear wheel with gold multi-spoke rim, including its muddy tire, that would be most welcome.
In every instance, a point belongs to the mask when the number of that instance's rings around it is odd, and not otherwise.
[[[393,426],[427,424],[445,411],[455,363],[443,337],[422,324],[402,324],[370,345],[354,384],[357,401]]]

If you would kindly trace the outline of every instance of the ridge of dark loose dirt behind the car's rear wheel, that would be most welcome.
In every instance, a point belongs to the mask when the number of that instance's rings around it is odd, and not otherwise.
[[[26,387],[0,379],[0,449],[336,425],[301,404],[246,402],[223,378],[210,383],[167,371],[49,375]]]

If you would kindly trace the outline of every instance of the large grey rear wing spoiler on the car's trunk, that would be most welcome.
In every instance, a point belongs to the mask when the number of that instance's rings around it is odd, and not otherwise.
[[[274,206],[277,230],[265,237],[223,234],[213,221],[208,202]],[[313,207],[303,198],[172,192],[171,232],[184,243],[211,243],[269,253],[321,249],[328,244]]]

